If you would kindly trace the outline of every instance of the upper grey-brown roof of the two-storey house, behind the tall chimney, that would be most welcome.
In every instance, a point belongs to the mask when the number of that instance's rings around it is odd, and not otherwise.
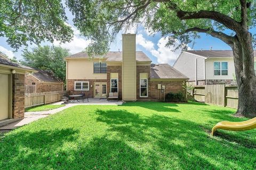
[[[86,52],[79,52],[66,58],[89,58]],[[107,58],[108,62],[122,62],[122,52],[107,52],[105,55],[94,56],[94,58]],[[138,62],[151,62],[150,58],[143,52],[136,52],[136,60]]]

